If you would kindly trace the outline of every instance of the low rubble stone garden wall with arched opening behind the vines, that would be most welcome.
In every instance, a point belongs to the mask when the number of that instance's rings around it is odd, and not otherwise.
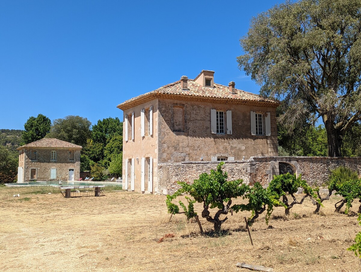
[[[192,183],[201,173],[210,173],[218,162],[179,162],[158,164],[158,193],[173,194],[179,186],[177,181]],[[223,170],[229,180],[243,179],[246,183],[260,182],[267,185],[278,175],[292,171],[308,184],[321,186],[327,182],[331,170],[347,166],[361,174],[361,157],[251,157],[246,161],[225,161]]]

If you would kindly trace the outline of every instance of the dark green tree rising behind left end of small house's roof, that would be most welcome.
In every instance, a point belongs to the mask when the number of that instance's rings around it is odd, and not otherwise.
[[[43,139],[49,133],[50,127],[51,120],[45,115],[31,116],[24,124],[25,131],[22,133],[22,144]]]

